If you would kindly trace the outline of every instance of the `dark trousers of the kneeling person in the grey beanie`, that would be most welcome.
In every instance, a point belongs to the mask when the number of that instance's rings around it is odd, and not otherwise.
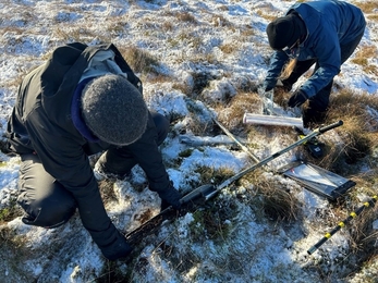
[[[161,114],[151,112],[151,115],[158,132],[156,142],[160,145],[168,135],[169,122]],[[108,151],[117,153],[113,148]],[[22,221],[44,227],[64,224],[76,210],[72,194],[46,172],[38,155],[22,155],[21,160],[17,202],[26,212]],[[127,155],[117,156],[117,160],[127,167],[135,165],[135,161],[129,159]]]

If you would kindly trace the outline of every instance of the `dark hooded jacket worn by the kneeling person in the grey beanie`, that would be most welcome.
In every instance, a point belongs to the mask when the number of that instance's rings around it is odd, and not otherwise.
[[[97,51],[108,49],[115,53],[115,62],[127,73],[129,81],[142,86],[113,45],[66,45],[57,48],[44,65],[24,78],[8,124],[9,150],[38,155],[45,170],[73,194],[83,224],[99,246],[107,245],[107,238],[115,232],[105,211],[88,156],[110,145],[88,143],[80,134],[71,119],[71,102],[89,60]],[[159,192],[168,188],[169,177],[156,136],[150,118],[143,137],[127,147],[146,172],[149,188]]]

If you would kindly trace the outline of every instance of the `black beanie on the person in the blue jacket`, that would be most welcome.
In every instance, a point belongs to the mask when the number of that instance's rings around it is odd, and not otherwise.
[[[267,26],[269,45],[275,50],[291,47],[301,37],[302,21],[295,14],[278,17]]]

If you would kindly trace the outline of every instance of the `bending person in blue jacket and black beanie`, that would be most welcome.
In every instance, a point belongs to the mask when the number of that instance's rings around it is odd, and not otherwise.
[[[359,44],[366,22],[363,12],[343,1],[295,3],[284,16],[268,24],[266,33],[275,50],[263,88],[285,91],[315,64],[312,76],[288,100],[303,108],[303,123],[309,127],[326,118],[333,77]]]

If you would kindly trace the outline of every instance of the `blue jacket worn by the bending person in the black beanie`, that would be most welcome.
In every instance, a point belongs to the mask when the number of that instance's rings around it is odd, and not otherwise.
[[[286,14],[298,13],[307,27],[307,37],[300,45],[298,61],[316,59],[319,69],[301,86],[307,97],[315,96],[339,74],[341,45],[347,45],[364,33],[366,23],[362,11],[343,1],[295,3]],[[270,60],[266,84],[276,85],[289,56],[275,51]]]

